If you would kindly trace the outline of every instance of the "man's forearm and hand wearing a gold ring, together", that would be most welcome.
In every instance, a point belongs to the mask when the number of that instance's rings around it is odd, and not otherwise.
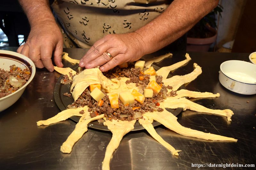
[[[135,32],[111,34],[95,42],[80,60],[79,66],[101,66],[101,71],[108,71],[124,62],[136,61],[184,35],[212,11],[218,2],[219,0],[174,0],[161,15]]]

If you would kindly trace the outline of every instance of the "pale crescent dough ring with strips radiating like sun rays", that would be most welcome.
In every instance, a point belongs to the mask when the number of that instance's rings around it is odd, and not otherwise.
[[[68,55],[68,54],[64,54]],[[172,56],[171,53],[162,55],[160,57],[155,57],[153,59],[146,60],[145,66],[150,67],[152,63],[159,62],[163,60],[166,57]],[[63,57],[68,59],[67,57]],[[68,59],[69,60],[69,59]],[[191,82],[196,79],[198,75],[202,73],[202,69],[200,66],[198,66],[196,63],[194,63],[194,71],[186,74],[186,75],[176,75],[171,78],[166,79],[167,75],[170,71],[175,70],[178,67],[183,66],[184,64],[188,63],[188,61],[191,60],[188,54],[186,54],[186,59],[183,61],[180,61],[176,64],[172,64],[168,67],[162,67],[160,68],[156,73],[157,75],[163,76],[163,82],[164,86],[170,85],[172,86],[172,90],[177,90],[180,88],[181,85]],[[72,74],[76,74],[76,72],[71,68],[57,68],[56,70],[59,70],[62,74],[67,74],[71,72]],[[73,74],[73,75],[74,75]],[[101,84],[101,89],[103,89],[107,94],[110,93],[120,93],[123,91],[132,91],[132,89],[138,89],[136,87],[136,83],[129,83],[126,84],[126,81],[130,80],[130,78],[122,77],[120,79],[111,79],[109,80],[107,77],[105,77],[102,72],[99,70],[99,68],[92,68],[92,69],[85,69],[81,73],[77,74],[73,78],[73,83],[71,85],[70,91],[72,91],[72,96],[74,100],[76,100],[83,92],[84,90],[91,84]],[[139,89],[138,89],[139,90]],[[168,92],[172,91],[171,89],[168,89]],[[162,144],[164,147],[166,147],[170,152],[172,152],[172,155],[179,155],[178,152],[180,150],[176,150],[172,145],[168,144],[166,141],[164,141],[163,138],[161,138],[160,135],[156,133],[156,130],[154,129],[152,122],[153,120],[163,124],[165,127],[169,128],[172,131],[175,131],[183,136],[188,137],[194,137],[194,138],[201,138],[205,140],[219,140],[219,141],[234,141],[236,142],[237,139],[229,138],[225,136],[215,135],[211,133],[204,133],[202,131],[193,130],[190,128],[183,127],[180,125],[177,121],[177,117],[175,117],[172,113],[165,110],[165,108],[179,108],[182,107],[184,110],[190,109],[197,112],[206,112],[206,113],[212,113],[216,115],[225,116],[228,118],[229,121],[231,121],[231,116],[234,114],[232,110],[226,109],[226,110],[213,110],[208,109],[202,105],[199,105],[197,103],[194,103],[184,97],[193,97],[193,98],[199,98],[199,97],[219,97],[220,94],[213,94],[209,92],[196,92],[196,91],[189,91],[189,90],[178,90],[176,92],[176,96],[167,97],[164,99],[163,102],[160,103],[160,108],[162,108],[164,111],[158,112],[146,112],[143,114],[143,118],[139,119],[139,123],[148,131],[148,133],[155,138],[160,144]],[[80,114],[79,112],[84,110],[84,114]],[[63,153],[70,153],[72,151],[73,146],[75,143],[83,136],[83,134],[88,131],[88,124],[97,119],[102,119],[104,117],[104,114],[98,115],[96,117],[91,118],[90,113],[88,112],[88,107],[84,106],[83,108],[76,108],[76,109],[67,109],[60,113],[58,113],[56,116],[49,118],[47,120],[38,121],[37,125],[49,125],[52,123],[60,122],[63,120],[66,120],[67,118],[71,116],[81,116],[79,122],[76,124],[76,127],[74,131],[68,136],[67,140],[62,144],[60,147],[60,151]],[[134,129],[134,124],[136,120],[132,121],[121,121],[121,120],[106,120],[104,117],[105,122],[103,123],[105,126],[108,126],[108,129],[112,132],[112,138],[106,148],[105,157],[102,162],[102,169],[103,170],[109,170],[109,163],[112,158],[113,153],[115,152],[116,148],[119,146],[120,141],[124,137],[125,134],[127,134],[129,131],[132,131]]]

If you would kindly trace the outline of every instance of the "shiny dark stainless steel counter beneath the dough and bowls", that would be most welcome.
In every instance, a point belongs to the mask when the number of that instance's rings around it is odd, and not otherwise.
[[[17,48],[7,47],[7,50]],[[69,56],[80,59],[86,49],[64,49]],[[157,52],[149,56],[159,56]],[[249,61],[248,53],[190,52],[192,60],[172,75],[184,75],[193,70],[193,63],[203,73],[186,85],[186,89],[220,93],[219,98],[190,99],[211,109],[231,109],[232,122],[226,117],[186,110],[178,115],[181,125],[238,139],[237,142],[214,142],[184,137],[160,125],[157,133],[180,156],[172,154],[149,136],[145,130],[124,136],[113,154],[110,168],[116,169],[190,169],[192,164],[255,164],[256,162],[256,95],[239,95],[219,83],[220,64],[226,60]],[[173,53],[172,58],[160,62],[168,66],[185,59],[185,52]],[[65,67],[71,64],[64,61]],[[74,130],[76,123],[66,120],[49,126],[36,126],[60,112],[54,102],[53,88],[60,74],[36,69],[33,81],[21,98],[0,113],[0,169],[101,169],[101,162],[111,132],[90,129],[75,144],[70,154],[60,152],[60,146]],[[194,167],[195,168],[195,167]],[[200,169],[222,169],[219,167]],[[230,168],[231,169],[231,168]],[[244,169],[235,168],[232,169]]]

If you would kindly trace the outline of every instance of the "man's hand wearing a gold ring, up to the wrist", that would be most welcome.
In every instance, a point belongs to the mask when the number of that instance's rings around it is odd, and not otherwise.
[[[87,69],[101,66],[101,71],[108,71],[124,62],[139,60],[145,55],[144,46],[140,35],[135,32],[109,34],[94,43],[80,60],[79,66]]]

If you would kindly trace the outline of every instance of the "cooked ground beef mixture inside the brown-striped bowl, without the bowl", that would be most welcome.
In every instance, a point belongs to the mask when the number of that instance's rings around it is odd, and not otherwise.
[[[21,69],[15,65],[10,66],[10,71],[0,68],[0,98],[12,94],[20,89],[30,78],[28,69]]]

